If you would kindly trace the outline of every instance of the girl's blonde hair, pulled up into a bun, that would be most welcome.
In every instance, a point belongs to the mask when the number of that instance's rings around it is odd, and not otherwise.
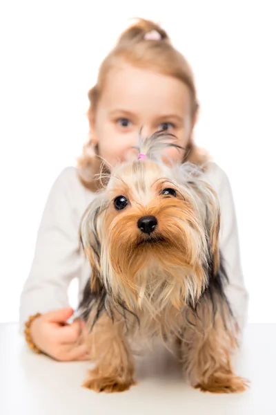
[[[159,34],[160,39],[149,42],[144,37],[146,33],[150,33],[152,30]],[[165,30],[152,21],[139,19],[121,34],[115,48],[103,59],[99,68],[97,84],[88,91],[90,105],[87,116],[90,125],[92,125],[95,117],[97,103],[101,98],[106,77],[110,69],[116,67],[118,62],[122,60],[137,68],[150,69],[184,82],[190,91],[190,117],[192,124],[195,122],[199,104],[197,102],[193,72],[188,62],[172,46]],[[188,151],[186,151],[185,161],[201,165],[208,157],[206,152],[195,146],[191,139],[186,150]],[[99,188],[100,185],[96,183],[95,178],[99,173],[101,162],[92,137],[83,146],[83,153],[78,158],[77,165],[79,167],[79,178],[83,185],[90,188],[90,190]]]

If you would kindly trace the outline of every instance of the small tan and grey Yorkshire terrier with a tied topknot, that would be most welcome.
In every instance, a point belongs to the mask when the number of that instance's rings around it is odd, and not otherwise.
[[[231,365],[237,333],[224,293],[217,196],[199,167],[162,161],[168,146],[178,147],[170,134],[146,138],[138,159],[113,169],[83,215],[92,277],[79,309],[95,362],[83,386],[129,389],[132,347],[158,337],[177,344],[194,387],[244,391]]]

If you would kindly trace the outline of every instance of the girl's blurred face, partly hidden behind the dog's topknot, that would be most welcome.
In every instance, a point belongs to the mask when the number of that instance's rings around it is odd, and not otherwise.
[[[188,87],[174,77],[124,64],[108,74],[90,127],[99,155],[112,167],[138,145],[141,127],[143,137],[163,129],[186,147],[193,128]],[[180,163],[184,155],[168,148],[166,156]]]

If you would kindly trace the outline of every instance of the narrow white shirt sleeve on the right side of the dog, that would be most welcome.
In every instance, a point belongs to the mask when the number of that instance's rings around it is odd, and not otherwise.
[[[226,295],[242,333],[247,321],[248,292],[244,284],[244,275],[239,251],[237,217],[233,201],[233,192],[226,174],[219,169],[218,196],[221,209],[220,249],[229,278]]]

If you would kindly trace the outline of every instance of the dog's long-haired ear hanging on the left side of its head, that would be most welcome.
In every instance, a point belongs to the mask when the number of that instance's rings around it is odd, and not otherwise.
[[[79,228],[80,248],[88,257],[92,268],[90,279],[91,291],[99,291],[101,277],[101,233],[103,216],[106,211],[106,199],[103,194],[97,194],[94,201],[88,205],[81,218]]]

